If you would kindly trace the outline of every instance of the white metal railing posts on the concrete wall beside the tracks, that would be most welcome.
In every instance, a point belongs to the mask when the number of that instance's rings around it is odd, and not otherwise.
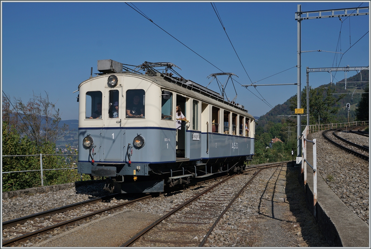
[[[304,173],[304,186],[306,186],[306,165],[313,169],[313,215],[316,216],[316,203],[317,203],[317,144],[316,139],[308,140],[306,137],[309,134],[308,126],[305,127],[302,133],[302,170]],[[313,143],[313,166],[307,160],[307,143]]]

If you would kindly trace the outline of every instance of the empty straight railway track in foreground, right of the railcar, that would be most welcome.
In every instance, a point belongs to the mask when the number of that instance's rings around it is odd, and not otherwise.
[[[283,165],[287,165],[287,163],[248,167],[246,172],[251,170],[255,172],[250,179],[248,179],[248,175],[243,175],[247,180],[244,185],[229,181],[237,175],[229,176],[166,213],[121,246],[138,246],[134,243],[139,238],[142,238],[141,242],[160,245],[203,246],[219,220],[254,177],[263,169]],[[221,185],[224,186],[221,187]],[[178,228],[162,229],[158,226],[162,223],[176,224]],[[201,242],[199,242],[200,239],[202,239]],[[143,245],[139,244],[139,246]]]

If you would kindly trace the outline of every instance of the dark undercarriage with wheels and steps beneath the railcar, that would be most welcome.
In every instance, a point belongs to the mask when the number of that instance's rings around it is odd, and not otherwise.
[[[206,179],[231,175],[244,170],[245,162],[251,156],[236,156],[227,158],[185,161],[163,164],[148,164],[133,166],[135,171],[143,170],[142,174],[116,175],[106,178],[104,190],[115,193],[156,193],[164,192],[166,188],[185,186]],[[117,172],[122,172],[127,165],[115,165]],[[110,166],[112,167],[112,166]],[[134,170],[133,170],[134,172]],[[93,175],[93,171],[92,171]]]

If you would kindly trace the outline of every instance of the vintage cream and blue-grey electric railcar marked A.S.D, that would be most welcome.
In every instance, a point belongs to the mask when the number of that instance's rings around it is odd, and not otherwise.
[[[173,67],[98,60],[100,73],[79,85],[78,173],[107,177],[111,192],[150,193],[244,168],[254,117]],[[176,119],[178,105],[187,120]]]

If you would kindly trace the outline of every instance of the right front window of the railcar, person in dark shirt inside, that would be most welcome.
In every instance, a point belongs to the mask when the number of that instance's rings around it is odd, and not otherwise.
[[[145,91],[143,89],[127,90],[125,111],[127,118],[144,118]]]

